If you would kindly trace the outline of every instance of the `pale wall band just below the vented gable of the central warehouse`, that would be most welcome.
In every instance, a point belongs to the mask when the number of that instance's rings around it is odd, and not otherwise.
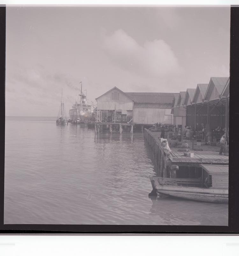
[[[133,110],[134,102],[123,101],[98,101],[97,109],[99,110]]]

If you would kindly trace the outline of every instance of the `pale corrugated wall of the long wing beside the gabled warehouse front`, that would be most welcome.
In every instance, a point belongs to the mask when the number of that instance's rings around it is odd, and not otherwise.
[[[165,115],[170,115],[171,109],[134,108],[133,123],[155,124],[162,123]]]

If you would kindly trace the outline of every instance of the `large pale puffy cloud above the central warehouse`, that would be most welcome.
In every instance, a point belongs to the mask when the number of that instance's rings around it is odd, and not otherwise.
[[[122,69],[154,77],[180,73],[178,60],[163,40],[139,45],[122,29],[102,36],[102,46],[108,57]]]

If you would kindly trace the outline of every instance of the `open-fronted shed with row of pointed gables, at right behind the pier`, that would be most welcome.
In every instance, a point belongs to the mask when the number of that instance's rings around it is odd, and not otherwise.
[[[228,116],[228,77],[211,77],[209,84],[198,84],[190,105],[187,100],[186,125],[198,131],[205,127],[206,133],[212,133],[216,140],[220,139],[224,128],[228,134]],[[220,132],[216,131],[218,127]]]

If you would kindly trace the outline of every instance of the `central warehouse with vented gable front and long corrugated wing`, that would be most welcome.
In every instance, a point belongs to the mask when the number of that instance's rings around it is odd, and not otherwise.
[[[123,92],[114,87],[96,98],[98,122],[132,122],[135,125],[172,124],[174,93]]]

